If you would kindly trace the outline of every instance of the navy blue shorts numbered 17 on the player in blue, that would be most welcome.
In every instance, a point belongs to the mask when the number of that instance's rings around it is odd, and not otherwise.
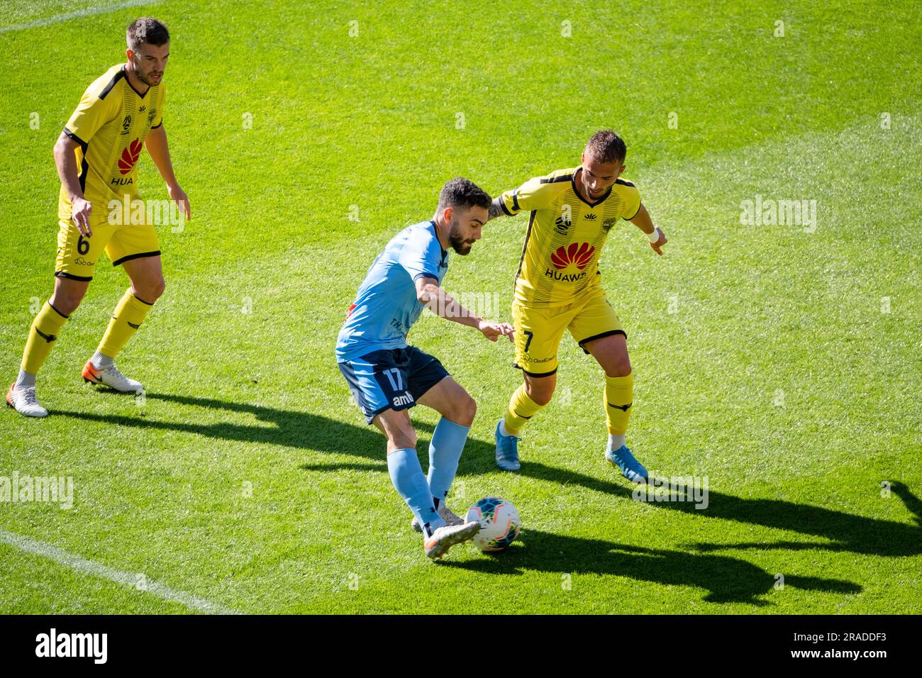
[[[408,410],[448,376],[438,358],[414,346],[372,351],[337,364],[368,423],[384,410]]]

